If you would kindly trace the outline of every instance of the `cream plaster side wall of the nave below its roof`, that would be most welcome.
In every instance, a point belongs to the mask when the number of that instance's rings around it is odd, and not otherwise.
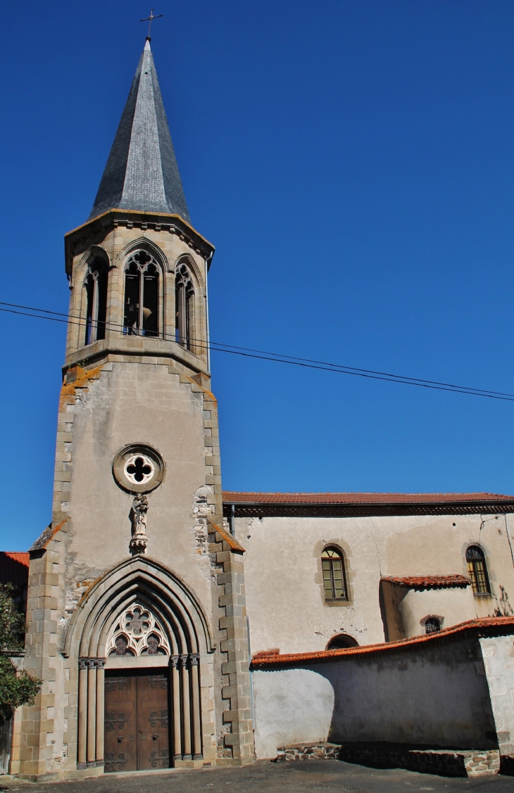
[[[237,496],[242,500],[245,494]],[[227,494],[225,513],[229,504]],[[491,594],[474,596],[471,587],[409,590],[399,606],[405,637],[423,634],[429,615],[437,615],[444,628],[476,617],[511,615],[512,516],[501,504],[497,508],[493,514],[474,515],[236,516],[236,538],[246,548],[251,652],[321,650],[339,633],[351,635],[359,645],[384,642],[382,578],[467,577],[466,548],[474,544],[484,550]],[[266,511],[265,504],[262,509]],[[320,557],[327,546],[344,554],[347,601],[324,601]]]

